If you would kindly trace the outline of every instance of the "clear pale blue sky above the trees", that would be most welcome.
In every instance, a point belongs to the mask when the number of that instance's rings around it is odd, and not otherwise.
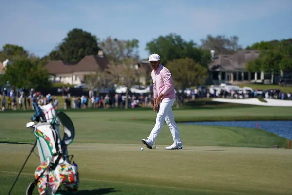
[[[185,40],[237,35],[243,47],[292,38],[292,0],[0,0],[0,47],[18,44],[48,54],[69,30],[82,28],[103,40],[146,43],[176,33]]]

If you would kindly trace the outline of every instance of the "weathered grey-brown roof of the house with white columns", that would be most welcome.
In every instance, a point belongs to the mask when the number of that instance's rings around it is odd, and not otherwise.
[[[237,51],[233,55],[218,55],[214,61],[212,61],[208,67],[209,70],[225,70],[234,71],[245,69],[245,64],[248,61],[257,59],[259,56],[259,50],[241,50]]]

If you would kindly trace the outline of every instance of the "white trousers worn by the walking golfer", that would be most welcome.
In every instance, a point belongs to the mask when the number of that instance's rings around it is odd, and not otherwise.
[[[157,113],[156,117],[156,124],[154,128],[152,129],[149,139],[155,141],[156,137],[158,136],[162,125],[164,123],[164,120],[166,124],[169,126],[170,132],[173,137],[173,142],[176,142],[177,144],[182,144],[179,130],[176,122],[174,121],[173,112],[171,109],[171,106],[173,105],[175,99],[163,99],[159,105],[159,111]]]

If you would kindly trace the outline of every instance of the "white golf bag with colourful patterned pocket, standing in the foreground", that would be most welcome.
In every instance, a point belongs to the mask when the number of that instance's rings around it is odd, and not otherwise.
[[[39,106],[33,103],[35,114],[31,118],[38,123],[34,126],[40,165],[35,171],[36,180],[27,188],[32,195],[37,185],[40,195],[63,195],[78,190],[79,176],[77,165],[68,156],[67,146],[72,143],[75,130],[71,119],[63,112],[55,112],[52,104]],[[64,136],[60,138],[60,125]],[[71,157],[71,159],[69,159]]]

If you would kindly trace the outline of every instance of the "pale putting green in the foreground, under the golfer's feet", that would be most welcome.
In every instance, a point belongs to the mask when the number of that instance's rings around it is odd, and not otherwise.
[[[32,145],[0,144],[0,194],[7,194]],[[72,144],[80,193],[95,195],[289,195],[289,149],[188,146],[168,151],[143,144]],[[36,150],[37,152],[37,150]],[[39,158],[32,155],[12,194],[24,194]],[[112,192],[114,191],[114,192]]]

